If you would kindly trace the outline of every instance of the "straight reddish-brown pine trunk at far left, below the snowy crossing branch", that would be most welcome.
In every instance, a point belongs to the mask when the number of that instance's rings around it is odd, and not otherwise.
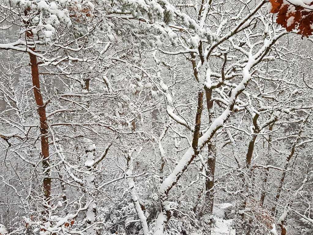
[[[49,142],[48,142],[48,123],[46,116],[46,105],[44,104],[42,94],[40,91],[40,80],[38,72],[38,63],[37,57],[32,53],[29,53],[31,70],[32,70],[32,82],[33,82],[33,91],[34,97],[37,104],[37,110],[39,114],[40,122],[40,134],[41,134],[41,154],[42,154],[42,165],[44,168],[44,200],[49,204],[49,199],[51,195],[51,178],[49,177]],[[47,205],[44,205],[44,208],[47,208]]]

